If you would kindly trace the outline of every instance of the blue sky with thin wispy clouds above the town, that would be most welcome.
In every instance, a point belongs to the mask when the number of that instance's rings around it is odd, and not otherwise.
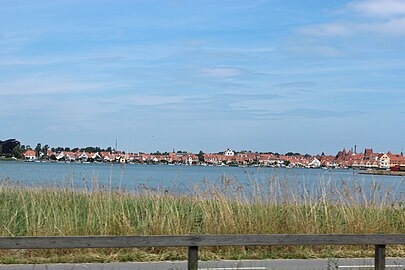
[[[405,0],[0,0],[0,139],[405,148]]]

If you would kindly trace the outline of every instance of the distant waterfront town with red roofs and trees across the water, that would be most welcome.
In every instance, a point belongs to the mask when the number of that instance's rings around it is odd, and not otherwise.
[[[188,153],[185,151],[156,153],[126,153],[108,147],[69,148],[49,147],[38,143],[35,147],[21,145],[10,139],[0,141],[0,158],[31,162],[96,162],[120,164],[166,164],[199,166],[265,166],[265,167],[301,167],[301,168],[353,168],[405,171],[403,153],[376,153],[371,148],[357,151],[354,146],[343,149],[336,155],[308,155],[288,152],[259,153],[225,149],[218,153]]]

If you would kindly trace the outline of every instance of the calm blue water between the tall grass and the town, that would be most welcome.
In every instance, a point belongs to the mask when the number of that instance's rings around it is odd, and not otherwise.
[[[97,182],[99,186],[107,188],[138,190],[148,186],[186,192],[203,181],[219,183],[223,177],[234,179],[246,188],[251,186],[252,179],[260,183],[280,179],[287,180],[292,186],[309,187],[316,187],[322,179],[345,180],[349,183],[363,181],[366,186],[375,181],[382,186],[393,187],[396,192],[405,193],[404,177],[360,175],[353,170],[0,161],[0,180],[33,186],[91,187]]]

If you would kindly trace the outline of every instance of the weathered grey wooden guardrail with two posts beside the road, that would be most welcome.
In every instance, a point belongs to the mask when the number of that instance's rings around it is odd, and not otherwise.
[[[189,270],[198,269],[199,247],[287,245],[374,245],[375,269],[381,270],[386,245],[405,245],[405,234],[0,237],[0,249],[188,247]]]

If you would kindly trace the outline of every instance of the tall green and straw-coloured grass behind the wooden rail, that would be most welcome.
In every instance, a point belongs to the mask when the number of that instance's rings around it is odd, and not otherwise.
[[[399,183],[399,186],[403,183]],[[187,194],[0,185],[1,236],[405,233],[404,194],[375,182],[322,180],[314,187],[277,177],[249,189],[223,177]],[[405,256],[389,246],[388,256]],[[182,260],[184,248],[6,250],[0,263]],[[218,247],[202,259],[373,256],[373,247]]]

